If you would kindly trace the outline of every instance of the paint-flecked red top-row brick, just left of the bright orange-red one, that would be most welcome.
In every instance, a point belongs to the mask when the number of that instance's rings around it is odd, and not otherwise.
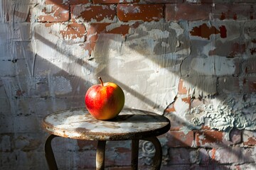
[[[102,6],[71,6],[71,18],[72,21],[81,19],[85,22],[100,22],[112,23],[116,16],[116,8],[114,5],[102,5]]]

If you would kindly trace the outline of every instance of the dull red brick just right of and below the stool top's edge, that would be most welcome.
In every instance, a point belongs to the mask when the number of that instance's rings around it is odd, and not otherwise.
[[[167,139],[169,147],[191,147],[193,145],[193,131],[187,134],[182,131],[169,131]]]

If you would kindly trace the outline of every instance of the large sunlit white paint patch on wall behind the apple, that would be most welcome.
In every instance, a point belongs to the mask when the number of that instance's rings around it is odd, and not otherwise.
[[[99,36],[94,53],[95,62],[99,64],[96,74],[108,77],[119,84],[125,94],[132,95],[126,96],[125,106],[163,113],[164,108],[174,101],[178,77],[169,71],[168,57],[143,50],[154,49],[153,40],[168,35],[154,29],[148,37],[141,39],[145,42],[144,48],[134,49],[130,45],[138,43],[139,38],[124,41],[120,35]],[[132,86],[139,86],[139,89],[134,90]]]

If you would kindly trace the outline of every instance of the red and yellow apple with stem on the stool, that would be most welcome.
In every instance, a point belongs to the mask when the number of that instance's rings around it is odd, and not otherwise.
[[[85,94],[87,111],[98,120],[110,120],[124,108],[124,91],[114,83],[103,83],[91,86]]]

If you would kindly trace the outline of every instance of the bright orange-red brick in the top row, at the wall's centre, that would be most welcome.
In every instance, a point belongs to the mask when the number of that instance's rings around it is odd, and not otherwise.
[[[161,4],[119,4],[117,16],[120,21],[159,21],[164,17]]]

